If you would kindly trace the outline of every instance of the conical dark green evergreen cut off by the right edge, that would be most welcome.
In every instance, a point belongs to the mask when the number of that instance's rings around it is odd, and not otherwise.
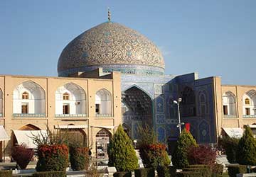
[[[256,141],[253,138],[250,127],[245,127],[245,132],[238,142],[236,159],[238,164],[256,165]]]

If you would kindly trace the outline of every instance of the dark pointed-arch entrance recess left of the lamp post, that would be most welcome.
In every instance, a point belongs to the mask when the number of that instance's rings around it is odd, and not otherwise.
[[[129,137],[138,139],[138,127],[153,128],[152,100],[150,96],[137,86],[122,93],[122,117]]]

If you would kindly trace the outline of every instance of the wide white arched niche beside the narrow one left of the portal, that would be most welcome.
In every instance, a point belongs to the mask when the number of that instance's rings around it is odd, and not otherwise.
[[[68,93],[68,99],[63,94]],[[87,117],[86,93],[81,86],[69,82],[59,86],[55,91],[55,117],[78,118]]]

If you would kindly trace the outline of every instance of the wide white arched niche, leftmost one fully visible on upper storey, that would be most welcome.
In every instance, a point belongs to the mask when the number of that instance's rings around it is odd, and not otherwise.
[[[28,99],[23,99],[22,94],[28,93]],[[23,106],[27,112],[22,113]],[[13,116],[14,117],[46,117],[46,93],[34,81],[23,81],[13,91]]]

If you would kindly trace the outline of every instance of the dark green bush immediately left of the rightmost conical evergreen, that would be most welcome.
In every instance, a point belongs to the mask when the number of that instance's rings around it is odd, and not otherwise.
[[[238,148],[238,142],[239,139],[235,137],[223,137],[220,139],[220,145],[225,149],[225,154],[227,155],[227,159],[230,164],[237,163],[235,156]]]

